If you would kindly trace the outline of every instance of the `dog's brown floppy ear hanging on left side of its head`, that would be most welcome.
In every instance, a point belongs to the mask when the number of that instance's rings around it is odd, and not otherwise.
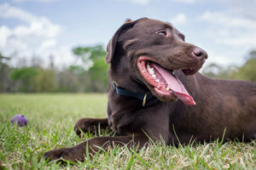
[[[132,21],[130,19],[126,20],[125,24],[123,26],[121,26],[119,28],[119,30],[114,33],[113,37],[108,42],[108,46],[107,46],[107,55],[106,55],[106,59],[105,59],[107,64],[110,63],[113,59],[116,43],[118,41],[120,33],[122,31],[125,31],[126,29],[129,29],[132,26],[134,26],[135,22],[136,21]]]

